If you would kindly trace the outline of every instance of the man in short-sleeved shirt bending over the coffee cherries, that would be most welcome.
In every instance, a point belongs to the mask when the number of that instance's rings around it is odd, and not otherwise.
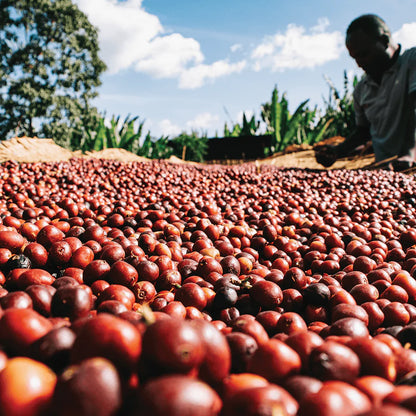
[[[365,72],[353,93],[357,128],[337,146],[317,147],[316,160],[331,166],[371,140],[377,162],[393,160],[389,168],[409,169],[416,164],[416,48],[401,51],[373,14],[351,22],[346,47]]]

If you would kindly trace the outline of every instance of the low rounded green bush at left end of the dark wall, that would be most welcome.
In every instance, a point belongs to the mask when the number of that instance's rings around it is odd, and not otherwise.
[[[199,136],[196,131],[191,134],[182,132],[170,142],[173,154],[183,160],[203,162],[208,150],[208,138],[204,134]]]

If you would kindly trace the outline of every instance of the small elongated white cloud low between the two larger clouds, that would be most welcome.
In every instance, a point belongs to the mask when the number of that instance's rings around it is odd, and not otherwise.
[[[226,60],[216,61],[211,65],[200,64],[182,72],[179,78],[180,88],[198,88],[207,80],[241,72],[246,66],[246,61],[230,64]]]

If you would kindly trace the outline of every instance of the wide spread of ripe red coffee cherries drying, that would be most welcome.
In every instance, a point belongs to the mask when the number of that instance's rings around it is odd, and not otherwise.
[[[0,165],[0,414],[416,414],[416,182]]]

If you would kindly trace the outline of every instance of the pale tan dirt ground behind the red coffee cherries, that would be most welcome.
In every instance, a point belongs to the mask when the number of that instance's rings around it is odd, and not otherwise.
[[[337,139],[332,139],[332,142],[337,141]],[[122,162],[143,162],[147,160],[124,149],[105,149],[99,152],[87,152],[86,154],[82,154],[80,151],[71,152],[58,146],[52,139],[16,137],[0,142],[0,163],[7,160],[14,160],[19,163],[54,162],[66,161],[74,157],[115,159]],[[185,163],[177,157],[171,157],[169,162]],[[255,163],[286,168],[324,169],[322,165],[316,162],[313,148],[301,146],[288,149],[285,153],[273,157],[257,160]],[[367,168],[371,167],[372,163],[374,163],[374,155],[367,154],[338,160],[331,169]]]

